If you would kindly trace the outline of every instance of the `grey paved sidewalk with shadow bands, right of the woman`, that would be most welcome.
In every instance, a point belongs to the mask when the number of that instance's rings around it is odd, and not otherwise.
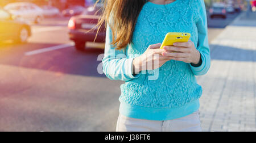
[[[210,48],[209,73],[197,77],[203,131],[256,131],[256,13],[238,16]]]

